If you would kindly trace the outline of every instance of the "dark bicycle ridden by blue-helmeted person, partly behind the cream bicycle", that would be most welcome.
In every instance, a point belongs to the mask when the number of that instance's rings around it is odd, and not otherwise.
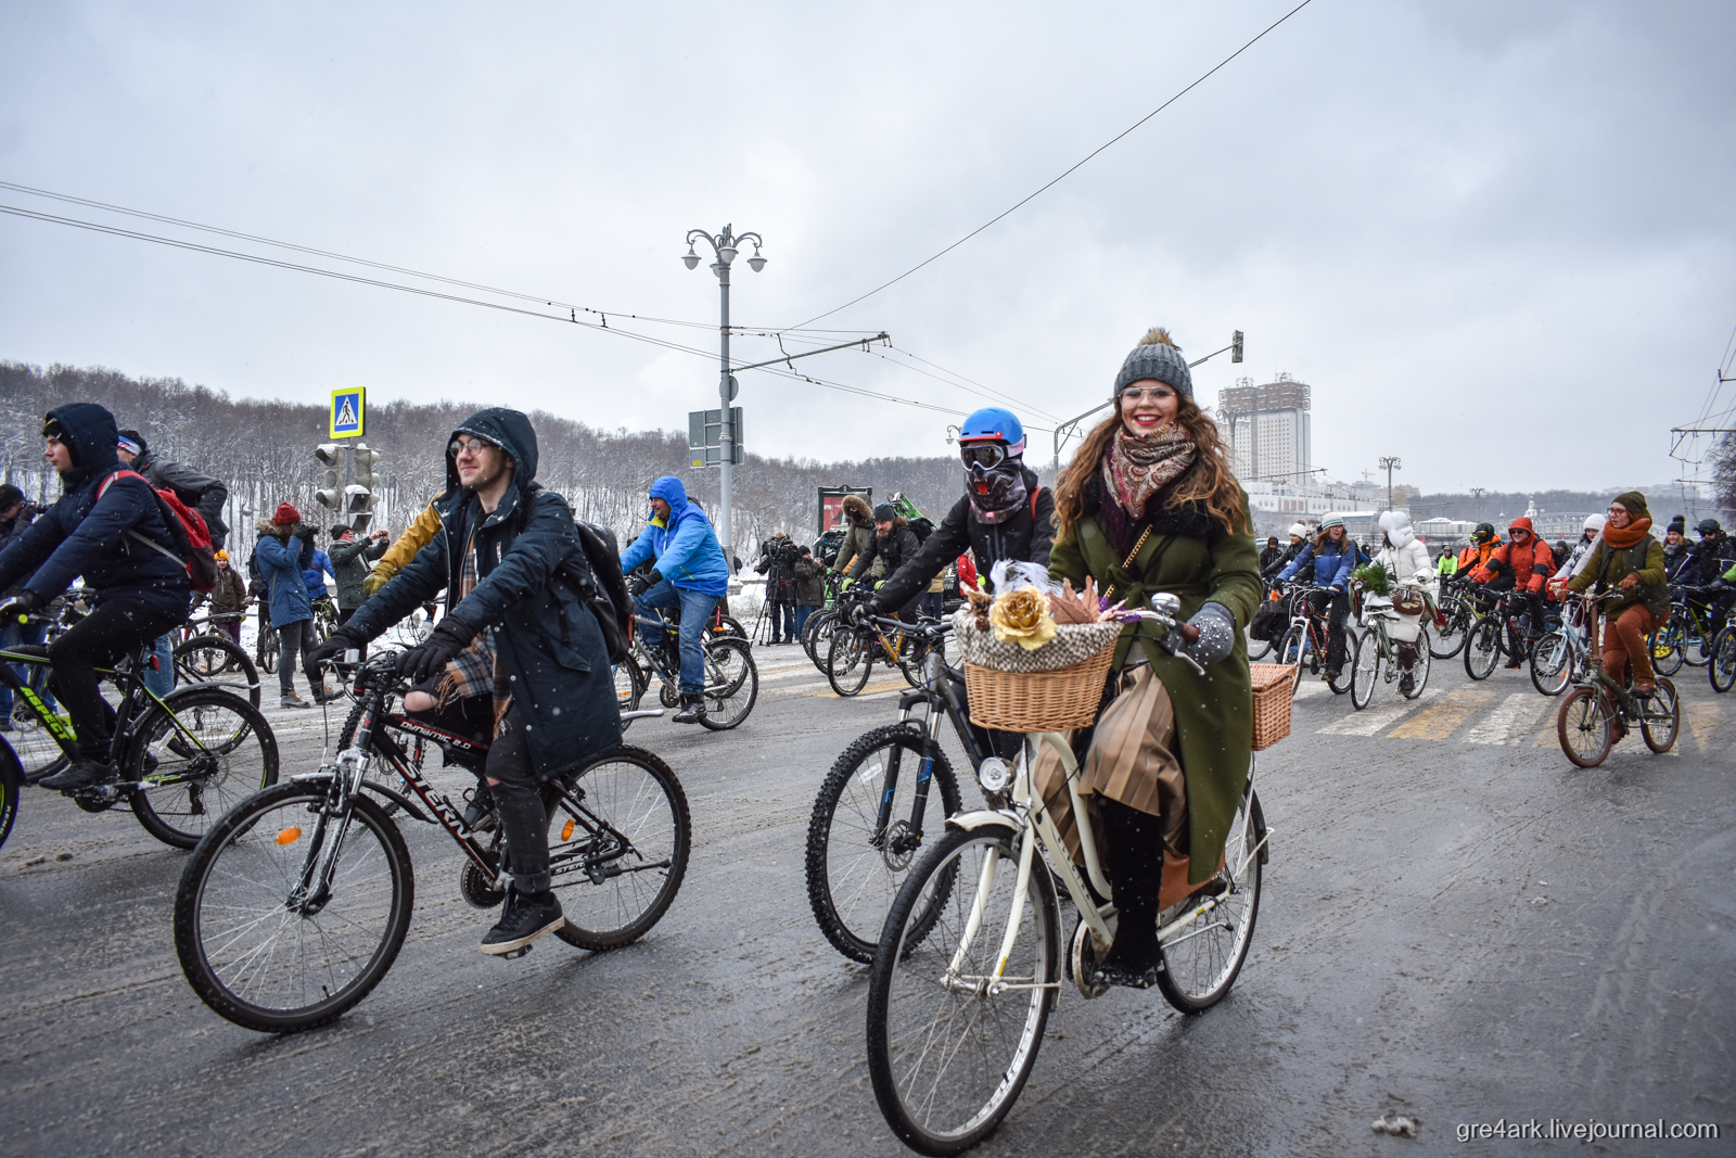
[[[906,628],[898,620],[878,623]],[[986,736],[965,714],[963,672],[946,663],[941,641],[951,623],[908,630],[929,644],[922,686],[899,696],[896,724],[844,748],[807,823],[807,903],[826,941],[863,964],[873,960],[875,938],[924,842],[962,807],[958,778],[941,750],[941,720],[951,720],[972,771],[988,755]],[[925,714],[913,719],[917,707]]]

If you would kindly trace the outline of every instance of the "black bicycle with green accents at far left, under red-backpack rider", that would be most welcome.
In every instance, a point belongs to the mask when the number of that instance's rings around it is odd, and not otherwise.
[[[97,675],[120,688],[108,752],[120,780],[61,795],[87,813],[127,804],[148,833],[191,849],[234,800],[276,783],[278,740],[253,705],[222,688],[194,684],[158,696],[144,686],[144,668],[153,661],[151,648],[144,646],[113,668],[97,668]],[[35,724],[30,733],[14,733],[19,747],[0,736],[0,842],[12,828],[23,788],[78,757],[71,720],[50,708],[36,691],[38,681],[21,677],[14,665],[47,672],[47,648],[24,644],[0,651],[0,682]]]

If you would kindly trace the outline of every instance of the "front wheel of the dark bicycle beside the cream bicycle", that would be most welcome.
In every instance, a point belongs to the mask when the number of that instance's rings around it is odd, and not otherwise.
[[[953,766],[936,745],[929,780],[939,786],[939,799],[930,788],[922,833],[915,842],[904,839],[910,832],[915,783],[920,780],[924,741],[924,733],[910,724],[887,724],[858,736],[832,762],[826,780],[819,785],[819,795],[814,797],[804,858],[807,905],[814,910],[814,922],[832,948],[852,962],[865,965],[873,962],[873,948],[885,925],[885,915],[924,842],[932,840],[934,833],[943,833],[946,818],[963,807]],[[865,766],[877,753],[892,748],[901,750],[899,764],[904,764],[903,755],[911,757],[911,762],[899,769],[894,785],[898,795],[891,806],[892,828],[903,828],[896,837],[889,832],[877,845],[873,830],[880,816],[887,767],[880,764],[877,774],[868,780],[870,767]],[[833,852],[842,852],[837,865]]]

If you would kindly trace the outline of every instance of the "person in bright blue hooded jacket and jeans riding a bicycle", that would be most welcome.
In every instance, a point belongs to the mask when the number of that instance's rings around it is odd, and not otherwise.
[[[630,573],[648,559],[656,569],[649,585],[634,594],[634,611],[681,608],[681,712],[675,722],[698,724],[705,715],[701,632],[717,601],[729,594],[729,564],[705,509],[687,498],[687,488],[674,474],[651,484],[651,517],[621,552],[621,571]],[[639,630],[654,628],[641,625]]]

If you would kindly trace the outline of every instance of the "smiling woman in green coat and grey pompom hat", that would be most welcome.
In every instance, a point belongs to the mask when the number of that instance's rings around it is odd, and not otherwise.
[[[1163,330],[1127,356],[1115,399],[1115,415],[1085,438],[1055,483],[1049,573],[1075,587],[1094,578],[1101,594],[1128,608],[1172,592],[1200,628],[1189,655],[1205,675],[1154,646],[1156,625],[1123,630],[1109,677],[1116,694],[1097,720],[1080,780],[1095,795],[1120,910],[1099,977],[1147,988],[1161,960],[1165,847],[1177,861],[1187,858],[1191,885],[1208,882],[1241,804],[1253,743],[1241,628],[1264,587],[1248,497]]]

